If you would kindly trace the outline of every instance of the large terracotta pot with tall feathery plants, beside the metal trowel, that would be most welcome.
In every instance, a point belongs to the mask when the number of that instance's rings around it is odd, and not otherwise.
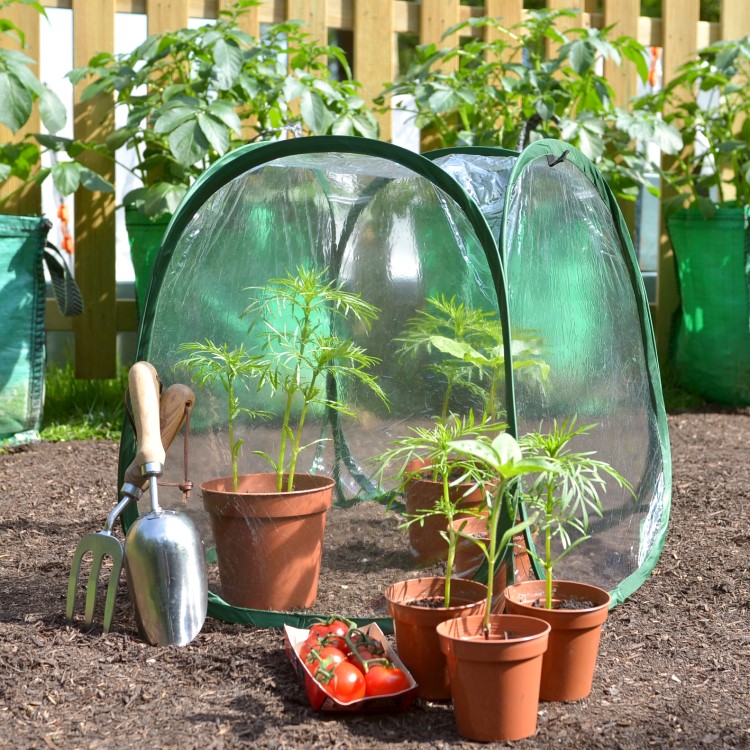
[[[198,385],[218,379],[228,398],[232,476],[200,485],[224,599],[252,609],[307,608],[317,594],[335,482],[300,470],[302,452],[319,442],[303,442],[306,420],[315,409],[352,413],[328,392],[330,378],[339,392],[347,381],[358,383],[387,405],[385,393],[368,373],[379,360],[337,333],[350,324],[369,329],[379,310],[326,282],[324,272],[316,269],[299,268],[296,275],[288,273],[248,291],[251,301],[241,317],[249,321],[248,340],[258,353],[189,342],[181,345],[187,357],[177,366],[190,370]],[[255,451],[271,465],[269,473],[238,472],[242,442],[235,438],[235,420],[248,414],[274,418],[240,406],[237,387],[245,378],[257,390],[257,400],[280,406],[278,452]]]

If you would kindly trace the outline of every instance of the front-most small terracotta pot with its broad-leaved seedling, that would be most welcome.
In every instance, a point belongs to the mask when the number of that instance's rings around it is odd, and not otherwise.
[[[487,541],[471,538],[494,570],[513,537],[534,520],[512,526],[518,517],[513,485],[522,476],[555,471],[545,458],[523,455],[518,442],[500,433],[491,443],[457,440],[453,449],[495,476],[488,494]],[[437,625],[445,654],[458,733],[480,742],[529,737],[536,731],[542,659],[550,626],[523,615],[493,614],[493,576],[488,577],[484,613],[445,620]]]

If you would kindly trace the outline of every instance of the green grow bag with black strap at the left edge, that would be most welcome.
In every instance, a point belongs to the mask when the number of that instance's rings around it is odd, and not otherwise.
[[[0,215],[0,445],[39,439],[50,227],[40,217]]]

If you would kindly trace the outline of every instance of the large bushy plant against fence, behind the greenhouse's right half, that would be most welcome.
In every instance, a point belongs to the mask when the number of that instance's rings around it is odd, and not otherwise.
[[[612,27],[557,28],[573,17],[570,10],[529,10],[511,28],[489,18],[453,26],[446,36],[492,27],[493,39],[418,47],[407,73],[377,101],[413,96],[417,127],[443,146],[520,149],[537,138],[562,138],[597,164],[616,195],[634,199],[642,185],[654,192],[636,140],[671,153],[679,134],[649,111],[615,107],[612,87],[596,70],[604,58],[635,66],[645,81],[645,49],[631,37],[612,38]]]

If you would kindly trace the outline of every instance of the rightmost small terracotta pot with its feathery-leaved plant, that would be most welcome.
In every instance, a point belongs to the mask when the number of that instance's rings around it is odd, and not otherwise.
[[[526,455],[547,464],[522,490],[524,505],[533,514],[531,528],[541,544],[541,551],[530,554],[544,570],[544,580],[509,586],[505,601],[509,613],[538,617],[552,628],[542,667],[542,700],[579,700],[591,691],[610,596],[597,586],[556,581],[554,570],[590,538],[589,518],[603,515],[601,496],[608,481],[633,491],[608,463],[590,451],[574,449],[574,441],[593,428],[578,426],[572,418],[555,421],[549,432],[529,433],[520,440]],[[555,539],[559,551],[553,546]]]

